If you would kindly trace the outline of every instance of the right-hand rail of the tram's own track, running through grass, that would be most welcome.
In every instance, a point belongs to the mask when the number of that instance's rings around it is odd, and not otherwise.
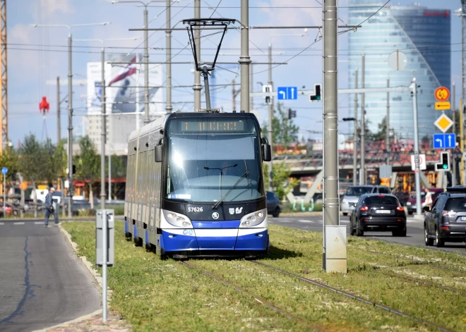
[[[362,297],[359,297],[359,296],[354,295],[354,294],[352,294],[352,293],[346,292],[345,290],[339,290],[339,289],[333,288],[333,287],[331,287],[331,286],[329,286],[329,285],[325,285],[325,284],[323,284],[323,283],[319,283],[318,281],[313,281],[313,280],[311,280],[311,279],[304,278],[304,277],[302,277],[302,276],[298,276],[297,274],[290,273],[290,272],[287,272],[287,271],[283,271],[283,270],[281,270],[281,269],[276,268],[275,266],[270,266],[270,265],[268,265],[268,264],[265,264],[265,263],[263,263],[263,262],[258,262],[258,261],[256,261],[256,260],[251,260],[251,261],[249,261],[249,262],[251,262],[252,264],[257,264],[257,265],[259,265],[259,266],[263,266],[263,267],[265,267],[265,268],[267,268],[267,269],[271,269],[271,270],[277,271],[277,272],[282,273],[282,274],[285,274],[285,275],[287,275],[287,276],[292,276],[292,277],[294,277],[294,278],[298,278],[299,280],[304,281],[305,283],[310,283],[311,285],[315,285],[315,286],[317,286],[317,287],[319,287],[319,288],[323,288],[323,289],[325,289],[325,290],[329,290],[329,291],[331,291],[331,292],[334,292],[334,293],[343,295],[343,296],[345,296],[345,297],[349,297],[349,298],[351,298],[351,299],[353,299],[353,300],[357,300],[357,301],[359,301],[359,302],[363,302],[363,303],[365,303],[366,305],[371,305],[371,306],[373,306],[373,307],[377,307],[377,308],[379,308],[379,309],[383,309],[383,310],[386,311],[386,312],[390,312],[390,313],[396,314],[396,315],[398,315],[398,316],[403,316],[403,317],[406,317],[406,318],[408,318],[408,319],[412,319],[413,321],[416,321],[417,323],[423,324],[423,325],[425,325],[425,326],[430,326],[431,328],[436,328],[438,331],[445,331],[445,332],[452,332],[452,331],[453,331],[453,330],[450,330],[449,328],[446,328],[446,327],[444,327],[444,326],[440,326],[440,325],[438,325],[438,324],[432,323],[431,321],[426,321],[425,319],[417,318],[417,317],[415,317],[415,316],[412,316],[411,314],[406,314],[405,312],[400,312],[399,310],[390,308],[390,307],[388,307],[388,306],[386,306],[386,305],[380,305],[380,304],[378,304],[378,303],[376,303],[376,302],[373,302],[373,301],[371,301],[371,300],[366,300],[366,299],[364,299],[364,298],[362,298]]]

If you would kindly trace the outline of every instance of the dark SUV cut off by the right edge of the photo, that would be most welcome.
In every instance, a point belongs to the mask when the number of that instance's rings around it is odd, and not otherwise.
[[[424,207],[424,240],[426,245],[443,247],[445,242],[465,242],[466,187],[448,187],[439,194],[432,209]]]

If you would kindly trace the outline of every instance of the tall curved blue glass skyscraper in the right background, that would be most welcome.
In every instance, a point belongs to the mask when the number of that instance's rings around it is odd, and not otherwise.
[[[386,1],[349,0],[349,25],[369,18]],[[355,71],[361,87],[362,54],[365,54],[365,87],[409,86],[416,78],[418,88],[419,140],[432,139],[439,130],[434,125],[441,111],[435,110],[434,91],[450,88],[450,11],[426,7],[389,6],[362,24],[357,32],[349,32],[349,87],[354,88]],[[407,56],[407,66],[394,70],[388,65],[393,51]],[[353,96],[349,107],[354,109]],[[387,94],[365,94],[366,122],[372,133],[378,131],[387,113]],[[361,99],[359,97],[359,104]],[[360,119],[360,105],[358,119]],[[352,111],[350,111],[352,114]],[[449,112],[447,113],[449,114]],[[402,140],[414,138],[412,97],[410,92],[390,92],[390,128]]]

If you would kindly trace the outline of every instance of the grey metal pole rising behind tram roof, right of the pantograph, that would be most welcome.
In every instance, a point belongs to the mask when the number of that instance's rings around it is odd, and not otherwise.
[[[241,107],[240,111],[249,113],[249,0],[241,0]]]

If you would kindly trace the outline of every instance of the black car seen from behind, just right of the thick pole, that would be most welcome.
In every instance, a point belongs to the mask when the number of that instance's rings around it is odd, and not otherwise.
[[[359,197],[349,218],[351,235],[364,231],[388,231],[393,236],[406,236],[405,209],[395,195],[366,194]]]

